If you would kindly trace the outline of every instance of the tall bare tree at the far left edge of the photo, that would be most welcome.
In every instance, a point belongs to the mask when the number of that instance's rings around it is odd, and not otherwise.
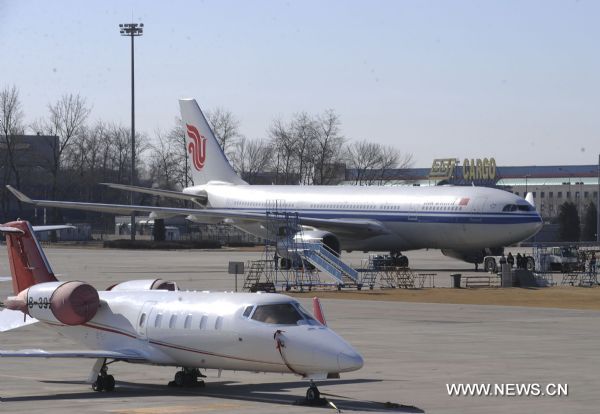
[[[17,187],[21,187],[21,172],[18,166],[15,136],[22,135],[24,132],[23,112],[19,101],[19,91],[14,85],[7,86],[0,92],[0,131],[2,132],[0,149],[5,151],[2,160],[2,189],[0,194],[2,194],[2,212],[6,216],[8,212],[6,184],[11,182],[13,174]],[[19,213],[21,213],[21,203],[19,203]]]

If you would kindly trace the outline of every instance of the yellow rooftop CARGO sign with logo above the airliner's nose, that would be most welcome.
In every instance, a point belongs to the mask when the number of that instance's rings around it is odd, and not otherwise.
[[[465,158],[462,168],[457,168],[455,158],[433,160],[429,178],[434,180],[495,181],[496,160],[494,158]]]

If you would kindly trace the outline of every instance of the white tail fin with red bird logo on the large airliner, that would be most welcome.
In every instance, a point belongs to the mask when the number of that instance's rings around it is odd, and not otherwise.
[[[220,182],[246,184],[231,167],[195,99],[180,99],[194,185]]]

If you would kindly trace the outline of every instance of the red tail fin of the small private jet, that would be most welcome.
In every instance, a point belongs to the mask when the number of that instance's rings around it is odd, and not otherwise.
[[[28,221],[19,220],[0,225],[0,233],[6,235],[15,295],[35,284],[57,281]]]

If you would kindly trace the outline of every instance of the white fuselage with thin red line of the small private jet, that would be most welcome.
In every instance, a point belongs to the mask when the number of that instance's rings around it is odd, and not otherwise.
[[[100,309],[86,324],[52,325],[91,349],[135,350],[159,365],[311,378],[362,366],[358,352],[307,314],[300,313],[297,323],[273,323],[264,315],[256,319],[261,306],[261,311],[288,305],[301,309],[285,295],[118,289],[99,294]],[[283,355],[274,339],[278,330]]]

